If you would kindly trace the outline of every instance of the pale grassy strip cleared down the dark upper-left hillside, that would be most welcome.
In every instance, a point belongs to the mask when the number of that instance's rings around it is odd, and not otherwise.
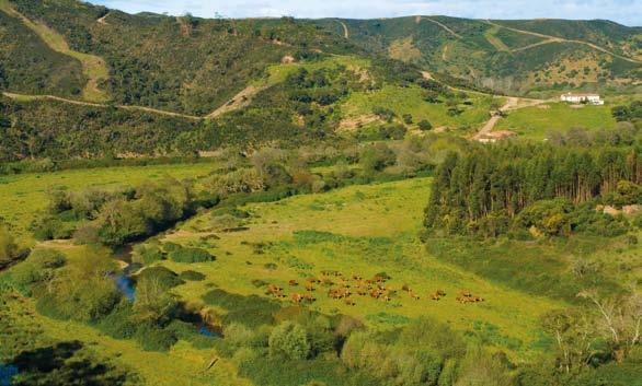
[[[62,35],[42,22],[28,20],[13,9],[8,0],[0,0],[0,10],[22,20],[24,25],[36,33],[53,50],[70,56],[81,62],[82,72],[88,80],[87,85],[82,90],[82,97],[85,101],[108,101],[107,94],[99,87],[99,84],[102,81],[107,80],[110,77],[110,69],[101,57],[72,50],[69,48],[69,45]]]

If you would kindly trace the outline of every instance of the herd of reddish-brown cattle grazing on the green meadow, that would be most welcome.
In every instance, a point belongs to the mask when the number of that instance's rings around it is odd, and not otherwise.
[[[321,271],[321,278],[306,278],[301,283],[297,280],[289,280],[290,288],[305,288],[305,292],[293,292],[289,299],[295,304],[313,303],[317,301],[314,293],[318,293],[320,288],[328,289],[328,296],[333,300],[343,301],[346,305],[356,305],[356,296],[370,296],[375,300],[390,302],[390,300],[398,293],[392,285],[387,284],[390,277],[385,273],[379,273],[371,279],[364,279],[358,274],[345,277],[340,271]],[[421,295],[414,292],[408,284],[401,286],[401,291],[405,292],[410,299],[419,301]],[[284,289],[276,284],[268,284],[266,290],[267,295],[277,299],[287,299]],[[427,299],[439,301],[446,296],[446,292],[437,290],[429,293]],[[455,299],[461,304],[483,302],[483,297],[473,295],[470,291],[463,290],[459,296]]]

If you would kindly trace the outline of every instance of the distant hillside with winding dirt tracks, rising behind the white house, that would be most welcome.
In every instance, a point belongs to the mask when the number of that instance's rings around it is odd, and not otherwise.
[[[607,21],[345,20],[371,51],[509,94],[635,84],[640,28]],[[322,22],[340,33],[335,21]],[[337,26],[339,25],[339,26]]]

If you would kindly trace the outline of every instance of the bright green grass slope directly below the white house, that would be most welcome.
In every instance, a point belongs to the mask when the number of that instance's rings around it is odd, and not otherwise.
[[[498,121],[495,130],[511,130],[525,138],[542,140],[551,131],[564,132],[572,128],[609,129],[615,125],[611,106],[608,105],[548,103],[509,112],[506,118]]]

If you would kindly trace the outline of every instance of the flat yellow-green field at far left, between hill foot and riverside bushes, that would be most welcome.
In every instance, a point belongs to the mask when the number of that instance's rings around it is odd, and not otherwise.
[[[27,231],[28,225],[36,213],[47,207],[47,191],[49,189],[112,188],[122,185],[136,185],[146,179],[163,176],[197,177],[207,175],[213,168],[213,163],[196,163],[101,167],[0,176],[0,218],[9,223],[21,242],[30,243],[32,236]]]

